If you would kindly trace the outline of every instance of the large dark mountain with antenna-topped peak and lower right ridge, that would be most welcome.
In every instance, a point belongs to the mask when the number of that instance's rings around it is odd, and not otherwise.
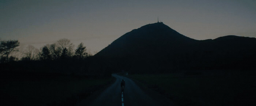
[[[255,69],[256,38],[194,40],[163,23],[154,23],[124,34],[95,57],[101,57],[112,70],[130,72]]]

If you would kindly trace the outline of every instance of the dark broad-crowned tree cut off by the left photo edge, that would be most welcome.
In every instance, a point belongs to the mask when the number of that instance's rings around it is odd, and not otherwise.
[[[8,41],[1,41],[0,44],[0,52],[1,54],[6,55],[7,61],[9,60],[9,54],[12,51],[18,51],[16,47],[19,46],[18,40],[8,40]]]

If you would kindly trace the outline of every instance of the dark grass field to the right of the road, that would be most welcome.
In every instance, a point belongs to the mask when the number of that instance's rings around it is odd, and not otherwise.
[[[255,103],[255,71],[233,71],[217,76],[133,74],[148,89],[165,95],[181,106],[227,106]]]

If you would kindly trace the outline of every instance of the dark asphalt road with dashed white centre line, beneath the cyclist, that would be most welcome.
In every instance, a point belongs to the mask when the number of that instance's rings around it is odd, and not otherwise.
[[[116,77],[116,82],[109,86],[102,94],[97,97],[89,106],[166,106],[156,99],[149,97],[131,79],[112,74]],[[120,83],[125,81],[125,89],[122,95]],[[123,97],[122,97],[123,96]],[[123,98],[123,99],[122,99]],[[88,104],[87,104],[88,105]],[[87,106],[80,103],[79,106]]]

